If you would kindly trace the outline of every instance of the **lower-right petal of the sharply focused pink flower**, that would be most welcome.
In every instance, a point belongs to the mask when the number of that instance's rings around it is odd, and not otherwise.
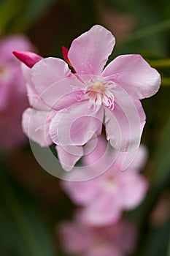
[[[120,87],[115,88],[115,108],[105,108],[107,139],[118,151],[139,148],[145,114],[138,99],[132,99]]]

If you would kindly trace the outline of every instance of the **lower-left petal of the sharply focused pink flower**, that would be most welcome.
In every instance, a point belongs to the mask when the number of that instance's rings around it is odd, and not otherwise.
[[[60,110],[50,125],[50,136],[60,146],[82,146],[94,135],[101,134],[103,109],[90,113],[88,102]]]

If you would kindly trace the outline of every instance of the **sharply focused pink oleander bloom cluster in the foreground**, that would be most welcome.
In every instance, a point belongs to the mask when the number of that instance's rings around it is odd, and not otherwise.
[[[71,170],[82,157],[83,146],[101,135],[103,124],[112,147],[119,151],[139,147],[145,124],[139,99],[155,94],[161,78],[136,54],[118,56],[104,68],[114,45],[111,32],[96,25],[74,39],[69,50],[63,48],[70,68],[58,58],[38,59],[34,64],[22,53],[19,58],[31,68],[30,83],[36,96],[48,106],[47,111],[53,112],[49,121],[34,106],[32,113],[27,110],[23,115],[23,129],[41,146],[53,141],[61,162],[68,159],[66,170]],[[46,143],[35,132],[39,122],[46,130],[43,136]]]

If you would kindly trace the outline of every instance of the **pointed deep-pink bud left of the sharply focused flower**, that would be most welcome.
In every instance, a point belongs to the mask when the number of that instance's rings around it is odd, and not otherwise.
[[[18,51],[18,50],[13,50],[12,53],[14,56],[22,61],[24,64],[26,64],[27,67],[33,67],[36,62],[41,61],[42,56],[39,56],[36,53],[32,53],[29,51]]]

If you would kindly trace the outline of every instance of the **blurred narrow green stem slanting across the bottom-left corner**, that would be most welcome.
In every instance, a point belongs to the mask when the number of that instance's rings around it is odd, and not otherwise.
[[[15,221],[15,224],[20,231],[20,234],[23,236],[23,239],[28,246],[30,251],[30,255],[32,256],[42,256],[42,250],[39,242],[36,240],[34,236],[34,230],[32,229],[28,217],[23,211],[23,208],[18,200],[17,195],[15,195],[14,190],[12,189],[5,173],[1,170],[1,196],[4,199],[4,203],[6,204],[9,213]]]

